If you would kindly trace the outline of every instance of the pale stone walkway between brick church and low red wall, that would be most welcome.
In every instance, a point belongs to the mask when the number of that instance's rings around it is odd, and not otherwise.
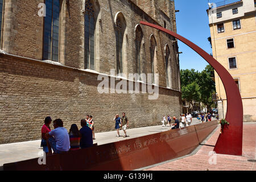
[[[159,121],[159,124],[161,122]],[[191,125],[197,125],[201,123],[196,118],[193,118]],[[113,126],[114,127],[114,126]],[[141,127],[137,129],[127,129],[127,138],[116,137],[117,131],[109,131],[104,133],[96,133],[93,143],[98,145],[118,142],[120,140],[142,137],[144,135],[150,135],[155,133],[160,133],[163,131],[170,130],[171,127],[162,127],[159,126],[148,126]],[[120,135],[123,136],[123,131],[119,131]],[[0,144],[0,170],[1,166],[6,163],[18,162],[21,160],[34,159],[42,156],[42,148],[40,148],[41,140],[33,140],[28,142],[18,142],[18,143],[9,143],[9,144]]]

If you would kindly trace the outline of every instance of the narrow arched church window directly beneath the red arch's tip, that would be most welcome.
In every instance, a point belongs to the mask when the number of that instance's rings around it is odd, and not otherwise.
[[[135,30],[135,56],[136,56],[136,71],[140,75],[141,74],[141,45],[142,45],[142,38],[143,38],[143,33],[141,26],[137,26]],[[139,80],[141,80],[141,77],[139,77]]]

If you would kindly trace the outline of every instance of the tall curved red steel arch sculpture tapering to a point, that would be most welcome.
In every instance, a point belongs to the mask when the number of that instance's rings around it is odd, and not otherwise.
[[[224,127],[222,133],[219,135],[214,151],[216,151],[217,154],[242,155],[243,106],[241,94],[233,77],[216,59],[200,47],[196,46],[196,44],[183,38],[183,36],[167,30],[166,28],[156,26],[155,24],[143,21],[140,23],[174,36],[184,44],[187,44],[187,46],[191,47],[212,65],[224,84],[227,99],[226,121],[229,122],[229,126]]]

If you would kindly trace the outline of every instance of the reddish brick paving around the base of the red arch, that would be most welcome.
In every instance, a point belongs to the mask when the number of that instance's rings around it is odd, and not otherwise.
[[[209,152],[220,134],[220,126],[213,132],[207,141],[197,147],[197,152],[191,156],[170,160],[151,167],[143,168],[146,171],[256,171],[256,123],[243,123],[243,150],[242,156],[216,154],[216,160]],[[209,163],[210,161],[210,163]]]

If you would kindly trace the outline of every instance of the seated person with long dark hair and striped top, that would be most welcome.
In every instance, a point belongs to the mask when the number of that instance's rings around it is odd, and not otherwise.
[[[68,135],[70,142],[70,150],[79,150],[81,134],[76,124],[71,125]]]

